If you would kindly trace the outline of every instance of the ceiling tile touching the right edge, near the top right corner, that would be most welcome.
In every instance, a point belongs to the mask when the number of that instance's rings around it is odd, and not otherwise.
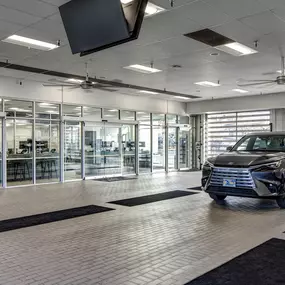
[[[240,19],[240,21],[264,35],[272,32],[285,31],[285,22],[270,11],[245,17]]]

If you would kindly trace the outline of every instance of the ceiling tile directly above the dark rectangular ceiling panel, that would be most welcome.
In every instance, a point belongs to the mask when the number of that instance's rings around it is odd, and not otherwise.
[[[188,18],[204,27],[212,27],[224,24],[232,20],[228,15],[202,1],[185,5]]]

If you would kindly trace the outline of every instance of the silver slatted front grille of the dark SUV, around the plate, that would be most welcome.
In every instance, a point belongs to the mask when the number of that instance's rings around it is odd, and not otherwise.
[[[212,170],[210,185],[223,187],[224,179],[235,179],[236,188],[254,189],[255,183],[250,171],[244,168],[220,168]]]

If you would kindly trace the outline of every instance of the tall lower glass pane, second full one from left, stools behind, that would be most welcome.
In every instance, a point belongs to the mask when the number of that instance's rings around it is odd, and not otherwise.
[[[59,181],[59,122],[37,120],[35,125],[36,182]]]

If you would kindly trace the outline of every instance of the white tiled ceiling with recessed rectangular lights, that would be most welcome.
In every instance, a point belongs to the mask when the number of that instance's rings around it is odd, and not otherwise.
[[[285,50],[284,0],[175,0],[174,8],[168,0],[153,0],[167,11],[146,18],[138,40],[83,58],[72,55],[68,45],[58,13],[58,6],[65,2],[68,0],[0,0],[0,39],[18,34],[54,43],[60,39],[62,43],[56,50],[42,52],[0,42],[0,61],[8,59],[11,63],[79,75],[84,75],[84,63],[89,61],[91,76],[166,88],[202,99],[241,96],[230,91],[237,88],[238,79],[274,79],[278,74],[263,73],[280,69],[280,51]],[[211,56],[215,49],[183,36],[203,28],[251,47],[258,40],[259,53],[233,57],[219,52],[219,56]],[[136,63],[149,65],[151,61],[163,72],[148,75],[123,69]],[[173,64],[182,68],[173,69]],[[37,81],[50,79],[5,69],[0,69],[1,75]],[[220,80],[222,86],[205,88],[194,84],[205,80]],[[245,96],[284,89],[285,86],[250,88]]]

